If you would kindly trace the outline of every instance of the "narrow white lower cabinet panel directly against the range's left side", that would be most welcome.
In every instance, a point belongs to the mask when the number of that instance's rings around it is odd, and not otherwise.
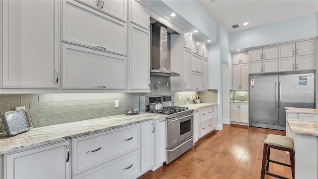
[[[166,133],[165,133],[165,119],[155,120],[155,136],[154,136],[154,168],[152,171],[157,170],[166,159]]]

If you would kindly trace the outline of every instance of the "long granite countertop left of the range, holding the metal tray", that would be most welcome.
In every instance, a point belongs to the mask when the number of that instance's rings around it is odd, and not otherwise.
[[[0,155],[162,118],[166,115],[140,112],[37,127],[16,136],[1,135]]]

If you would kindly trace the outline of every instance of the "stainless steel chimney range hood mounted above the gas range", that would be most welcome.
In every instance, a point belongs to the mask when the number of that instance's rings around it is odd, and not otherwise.
[[[170,40],[167,27],[160,22],[152,24],[152,68],[151,75],[163,77],[180,77],[170,70]]]

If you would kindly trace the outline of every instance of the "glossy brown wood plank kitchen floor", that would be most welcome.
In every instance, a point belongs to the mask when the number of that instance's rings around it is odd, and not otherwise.
[[[212,131],[169,165],[139,179],[259,179],[268,134],[285,135],[285,131],[223,124],[222,131]],[[290,164],[285,151],[272,149],[270,159]],[[285,166],[270,163],[269,171],[292,178]]]

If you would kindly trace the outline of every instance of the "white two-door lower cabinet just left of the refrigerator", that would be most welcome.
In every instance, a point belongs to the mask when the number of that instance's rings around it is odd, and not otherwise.
[[[231,122],[248,123],[248,103],[231,103]]]

